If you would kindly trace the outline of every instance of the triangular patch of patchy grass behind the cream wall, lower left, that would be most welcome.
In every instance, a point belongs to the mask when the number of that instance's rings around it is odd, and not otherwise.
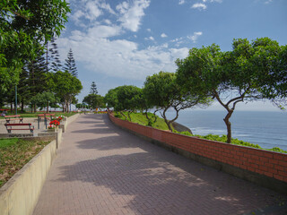
[[[49,142],[18,138],[0,139],[0,187]]]

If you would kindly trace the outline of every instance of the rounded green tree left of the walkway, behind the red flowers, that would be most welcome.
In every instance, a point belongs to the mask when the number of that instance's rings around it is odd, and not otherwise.
[[[71,73],[58,71],[48,74],[48,86],[61,99],[63,111],[69,112],[69,105],[83,89],[82,82]]]

